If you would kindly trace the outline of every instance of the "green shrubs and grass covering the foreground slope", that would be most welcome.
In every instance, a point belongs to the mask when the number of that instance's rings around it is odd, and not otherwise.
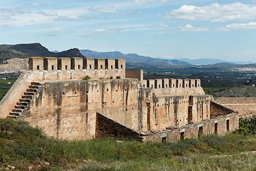
[[[0,169],[255,170],[256,135],[243,133],[161,144],[109,138],[68,141],[47,138],[23,121],[1,119]]]

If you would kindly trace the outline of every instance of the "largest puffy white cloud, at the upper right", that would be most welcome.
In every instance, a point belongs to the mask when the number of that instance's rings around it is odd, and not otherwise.
[[[256,18],[256,5],[242,4],[210,4],[209,6],[183,5],[166,14],[167,19],[209,20],[225,22],[234,20],[251,20]]]

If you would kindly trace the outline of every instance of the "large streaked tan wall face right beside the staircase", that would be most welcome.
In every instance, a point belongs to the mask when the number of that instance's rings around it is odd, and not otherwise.
[[[138,128],[137,80],[43,83],[25,120],[55,138],[95,138],[96,112]]]

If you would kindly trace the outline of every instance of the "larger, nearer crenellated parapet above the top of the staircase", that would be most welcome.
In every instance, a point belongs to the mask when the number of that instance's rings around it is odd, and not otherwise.
[[[90,78],[125,78],[125,60],[122,58],[55,58],[31,57],[29,71],[38,80],[65,80]]]

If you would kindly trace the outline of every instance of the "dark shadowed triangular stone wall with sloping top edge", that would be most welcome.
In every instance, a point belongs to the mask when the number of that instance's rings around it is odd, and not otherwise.
[[[142,141],[142,137],[136,130],[127,128],[127,126],[117,123],[110,117],[96,114],[96,133],[95,138],[112,137],[118,140],[138,140]]]

